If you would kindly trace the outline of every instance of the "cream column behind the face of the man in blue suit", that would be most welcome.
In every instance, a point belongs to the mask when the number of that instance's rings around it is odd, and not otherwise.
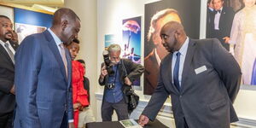
[[[86,63],[86,76],[90,79],[90,105],[96,115],[97,84],[97,9],[96,0],[66,0],[65,7],[73,9],[81,20],[79,32],[80,51],[77,59],[84,59]]]

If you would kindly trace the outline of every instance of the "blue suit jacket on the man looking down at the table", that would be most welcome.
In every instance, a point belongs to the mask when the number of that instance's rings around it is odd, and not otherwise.
[[[71,57],[68,73],[48,31],[25,38],[15,54],[15,128],[60,128],[65,111],[73,119]]]

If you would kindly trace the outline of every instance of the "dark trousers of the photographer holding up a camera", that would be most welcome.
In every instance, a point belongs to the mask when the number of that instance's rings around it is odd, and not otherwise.
[[[112,121],[113,110],[117,113],[119,120],[129,119],[128,105],[125,103],[124,99],[116,103],[106,102],[103,100],[102,121]]]

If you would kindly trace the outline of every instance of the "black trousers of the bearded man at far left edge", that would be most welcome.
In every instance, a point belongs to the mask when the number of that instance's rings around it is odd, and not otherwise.
[[[14,113],[0,115],[0,128],[13,128]]]

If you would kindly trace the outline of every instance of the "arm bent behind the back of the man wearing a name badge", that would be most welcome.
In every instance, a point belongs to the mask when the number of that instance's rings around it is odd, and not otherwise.
[[[217,38],[212,39],[212,64],[222,79],[225,88],[234,102],[241,84],[241,69],[233,55],[219,43]]]

